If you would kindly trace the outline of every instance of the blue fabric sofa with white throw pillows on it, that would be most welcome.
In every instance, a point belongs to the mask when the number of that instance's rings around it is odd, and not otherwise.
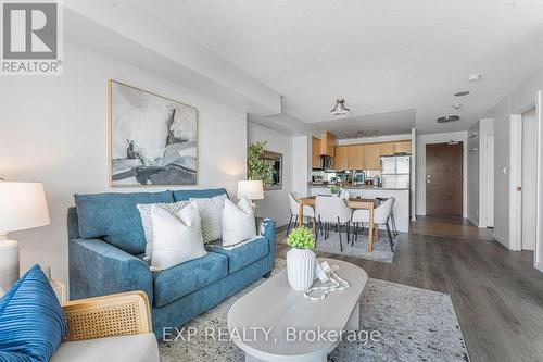
[[[274,267],[275,222],[258,221],[260,236],[233,250],[207,254],[152,272],[142,260],[146,240],[138,203],[214,197],[225,189],[75,195],[68,209],[70,299],[143,290],[152,305],[153,332],[177,327],[210,310]]]

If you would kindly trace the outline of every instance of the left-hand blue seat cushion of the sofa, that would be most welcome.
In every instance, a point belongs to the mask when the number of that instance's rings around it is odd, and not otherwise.
[[[227,275],[228,258],[215,252],[154,272],[154,305],[171,303]]]

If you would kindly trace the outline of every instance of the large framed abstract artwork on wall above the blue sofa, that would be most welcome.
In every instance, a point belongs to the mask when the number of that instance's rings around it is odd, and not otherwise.
[[[198,109],[109,82],[110,185],[198,185]]]

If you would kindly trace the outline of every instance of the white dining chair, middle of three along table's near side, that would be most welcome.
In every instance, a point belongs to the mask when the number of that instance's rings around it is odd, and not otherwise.
[[[330,226],[336,225],[340,239],[340,250],[343,251],[343,240],[341,239],[341,227],[345,227],[346,242],[349,244],[349,229],[353,211],[348,208],[345,201],[338,197],[317,196],[315,199],[315,213],[318,217],[318,228],[325,240],[330,234]],[[318,237],[318,236],[317,236]]]

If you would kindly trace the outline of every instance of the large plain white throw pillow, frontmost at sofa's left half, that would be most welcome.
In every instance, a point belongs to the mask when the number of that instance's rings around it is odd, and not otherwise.
[[[200,212],[195,202],[175,214],[153,205],[153,251],[151,267],[162,271],[207,252],[203,246]]]

